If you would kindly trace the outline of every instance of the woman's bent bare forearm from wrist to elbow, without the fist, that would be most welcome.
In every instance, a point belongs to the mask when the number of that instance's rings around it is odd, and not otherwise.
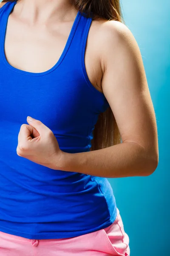
[[[131,177],[150,175],[156,167],[154,157],[143,147],[126,142],[95,151],[63,152],[54,169],[98,177]]]

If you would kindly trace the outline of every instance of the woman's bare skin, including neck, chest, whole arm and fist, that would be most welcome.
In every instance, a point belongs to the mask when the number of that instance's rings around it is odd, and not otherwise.
[[[76,15],[69,0],[20,0],[8,19],[8,62],[35,73],[53,67]],[[21,125],[17,154],[67,172],[100,177],[151,175],[159,162],[156,117],[142,56],[127,26],[113,20],[94,20],[88,34],[85,66],[89,80],[111,106],[122,143],[96,151],[66,153],[59,149],[52,131],[33,119]]]

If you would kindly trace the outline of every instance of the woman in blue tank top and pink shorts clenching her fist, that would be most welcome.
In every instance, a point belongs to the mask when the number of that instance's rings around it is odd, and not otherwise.
[[[107,177],[159,152],[119,0],[3,1],[0,44],[0,255],[130,256]]]

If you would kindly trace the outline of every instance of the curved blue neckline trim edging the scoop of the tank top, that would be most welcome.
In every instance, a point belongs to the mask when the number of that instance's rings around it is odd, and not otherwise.
[[[64,49],[62,51],[62,54],[60,55],[57,63],[53,67],[51,67],[49,70],[46,70],[46,71],[40,72],[40,73],[33,73],[33,72],[28,72],[28,71],[20,70],[20,69],[17,69],[16,67],[11,66],[11,64],[9,64],[7,59],[6,59],[6,55],[5,55],[5,38],[6,38],[6,29],[7,29],[8,17],[11,14],[11,12],[12,12],[15,4],[17,3],[17,1],[7,2],[7,3],[10,3],[11,6],[8,9],[8,12],[7,12],[6,16],[4,17],[3,28],[2,28],[2,40],[1,40],[1,47],[0,47],[1,55],[3,57],[4,63],[6,64],[6,66],[8,68],[13,70],[14,72],[21,73],[21,74],[26,75],[26,76],[44,76],[44,75],[46,75],[48,73],[51,73],[53,70],[55,70],[59,66],[59,64],[61,64],[63,58],[66,55],[66,52],[68,51],[68,48],[70,47],[71,41],[72,41],[72,39],[74,37],[74,33],[75,33],[76,29],[77,29],[77,26],[78,26],[78,23],[79,23],[79,20],[80,20],[80,17],[81,17],[81,13],[79,11],[77,12],[77,15],[76,15],[76,17],[74,19],[74,23],[73,23],[73,25],[71,27],[71,32],[70,32],[70,34],[68,36],[68,39],[67,39],[66,44],[65,44],[65,47],[64,47]]]

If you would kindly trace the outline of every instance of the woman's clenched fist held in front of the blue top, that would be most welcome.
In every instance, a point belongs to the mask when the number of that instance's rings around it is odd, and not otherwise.
[[[39,120],[28,116],[27,122],[29,125],[23,124],[20,127],[17,155],[53,169],[64,153],[59,149],[56,137]]]

